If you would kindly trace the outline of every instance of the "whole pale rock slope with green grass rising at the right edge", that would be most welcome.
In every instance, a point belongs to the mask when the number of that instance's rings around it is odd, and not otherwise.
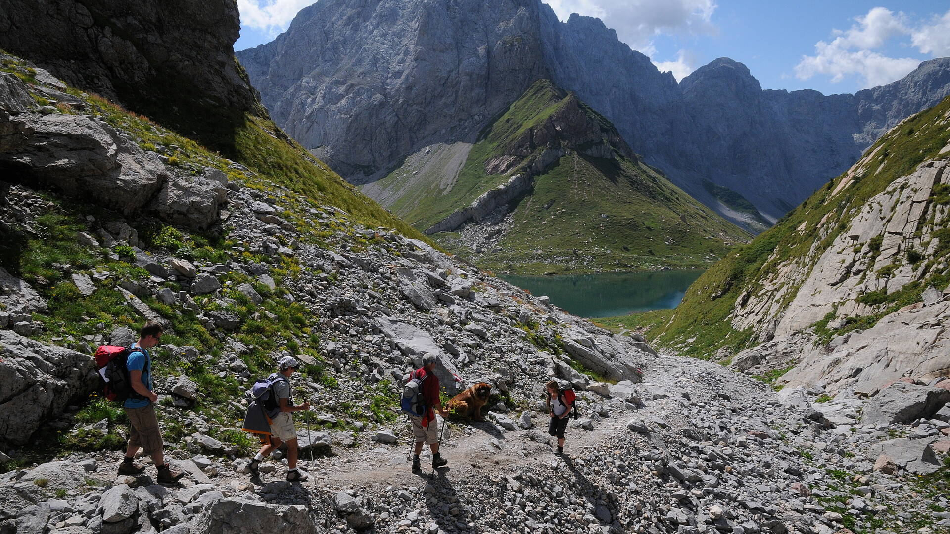
[[[732,358],[740,370],[796,363],[782,382],[873,394],[950,370],[948,260],[950,98],[895,126],[749,248],[713,266],[683,315],[721,313],[716,302],[729,302],[722,318],[731,332],[759,343]]]

